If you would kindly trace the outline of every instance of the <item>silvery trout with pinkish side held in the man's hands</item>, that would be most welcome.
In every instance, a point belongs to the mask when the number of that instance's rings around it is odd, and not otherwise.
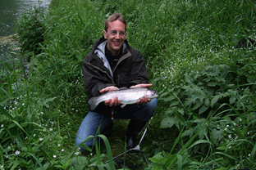
[[[158,92],[147,87],[126,88],[91,97],[88,104],[91,110],[95,110],[99,103],[107,101],[108,99],[113,99],[116,96],[118,97],[118,100],[121,101],[121,108],[124,108],[126,105],[137,103],[141,97],[147,97],[149,99],[156,98],[158,97]]]

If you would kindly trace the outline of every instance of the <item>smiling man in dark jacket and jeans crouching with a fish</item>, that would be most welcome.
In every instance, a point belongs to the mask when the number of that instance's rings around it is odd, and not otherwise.
[[[126,20],[121,13],[115,13],[105,22],[103,38],[94,42],[92,51],[83,62],[85,93],[88,99],[103,92],[118,91],[120,88],[151,87],[144,58],[138,50],[130,47],[126,40]],[[144,97],[137,104],[126,105],[121,109],[118,97],[109,99],[90,110],[86,115],[75,138],[75,145],[84,143],[88,136],[103,133],[114,119],[130,119],[126,132],[128,148],[135,147],[135,137],[153,116],[157,99]],[[94,139],[86,141],[91,148]],[[85,153],[84,147],[81,152]]]

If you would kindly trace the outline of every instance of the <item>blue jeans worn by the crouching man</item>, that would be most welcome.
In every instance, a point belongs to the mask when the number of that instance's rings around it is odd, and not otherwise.
[[[153,116],[157,103],[158,100],[154,98],[144,105],[126,105],[125,108],[115,113],[115,119],[131,119],[132,117],[135,117],[141,121],[148,122]],[[75,145],[84,143],[89,148],[92,148],[94,145],[94,138],[89,141],[85,141],[86,138],[88,136],[96,136],[98,128],[99,133],[103,132],[103,130],[107,128],[107,125],[111,122],[112,119],[109,115],[89,111],[83,122],[80,124],[80,128],[75,138]],[[82,153],[86,152],[83,146],[81,146],[80,149]]]

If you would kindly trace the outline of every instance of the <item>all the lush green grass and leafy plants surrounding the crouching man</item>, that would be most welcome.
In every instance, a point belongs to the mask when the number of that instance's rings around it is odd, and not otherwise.
[[[88,111],[81,64],[113,12],[160,93],[141,144],[149,165],[127,154],[126,169],[256,168],[256,51],[235,48],[256,39],[254,0],[52,0],[19,20],[23,55],[2,52],[0,169],[114,169],[126,121],[92,154],[75,148]]]

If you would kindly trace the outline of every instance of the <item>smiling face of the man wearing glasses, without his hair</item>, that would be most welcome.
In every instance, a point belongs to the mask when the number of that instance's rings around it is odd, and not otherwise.
[[[126,40],[126,25],[120,20],[114,20],[108,24],[107,31],[104,30],[104,38],[107,39],[107,49],[112,56],[117,56]]]

